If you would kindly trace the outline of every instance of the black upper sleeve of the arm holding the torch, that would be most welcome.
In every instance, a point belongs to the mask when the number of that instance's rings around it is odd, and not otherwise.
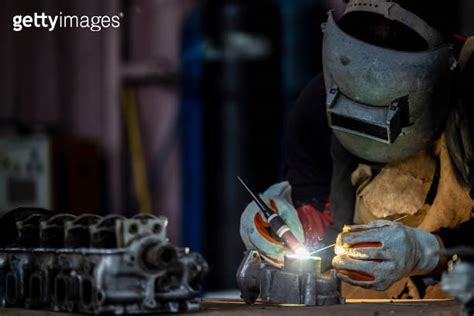
[[[289,114],[284,137],[286,179],[296,206],[312,203],[322,210],[328,198],[332,160],[323,75],[303,90]]]

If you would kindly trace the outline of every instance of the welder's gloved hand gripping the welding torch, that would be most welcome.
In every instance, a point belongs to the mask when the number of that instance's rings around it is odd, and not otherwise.
[[[282,217],[296,239],[304,243],[303,227],[291,202],[291,186],[288,182],[272,185],[262,197]],[[285,255],[291,253],[271,231],[255,202],[245,208],[240,218],[240,236],[247,249],[258,250],[268,263],[276,267],[282,267]]]

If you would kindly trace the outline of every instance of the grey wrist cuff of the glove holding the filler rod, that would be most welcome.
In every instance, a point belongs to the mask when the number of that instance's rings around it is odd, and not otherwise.
[[[418,262],[415,264],[410,275],[424,275],[432,272],[439,263],[440,245],[435,235],[421,229],[413,228],[414,238],[417,244],[415,248],[419,253]]]

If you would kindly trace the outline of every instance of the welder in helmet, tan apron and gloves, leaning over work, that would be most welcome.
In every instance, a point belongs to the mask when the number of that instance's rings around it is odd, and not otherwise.
[[[336,241],[326,256],[340,279],[389,298],[426,297],[442,249],[474,243],[474,45],[451,34],[446,9],[349,0],[328,14],[323,73],[287,122],[287,181],[263,193],[308,249]],[[253,202],[240,232],[283,265],[290,250]]]

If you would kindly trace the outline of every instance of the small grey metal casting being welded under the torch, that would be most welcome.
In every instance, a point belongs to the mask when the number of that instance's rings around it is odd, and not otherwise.
[[[283,269],[266,264],[258,251],[245,252],[237,270],[237,286],[247,304],[262,301],[280,304],[343,304],[335,271],[320,273],[320,258],[286,257]]]

